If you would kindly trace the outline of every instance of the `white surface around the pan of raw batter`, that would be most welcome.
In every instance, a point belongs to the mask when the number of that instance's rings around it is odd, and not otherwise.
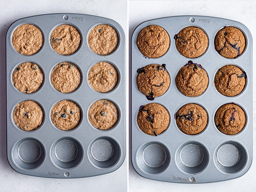
[[[91,178],[39,178],[23,175],[12,170],[6,158],[5,35],[11,23],[18,19],[37,14],[66,12],[92,14],[113,19],[124,29],[126,42],[128,42],[127,1],[1,0],[0,7],[0,192],[126,191],[127,153],[123,165],[117,171]],[[126,45],[128,46],[128,43]]]

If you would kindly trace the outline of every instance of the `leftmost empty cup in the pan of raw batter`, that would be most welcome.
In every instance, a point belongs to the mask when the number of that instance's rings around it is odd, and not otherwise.
[[[43,163],[44,157],[44,147],[35,138],[23,138],[15,143],[12,149],[12,160],[21,169],[36,169]]]

